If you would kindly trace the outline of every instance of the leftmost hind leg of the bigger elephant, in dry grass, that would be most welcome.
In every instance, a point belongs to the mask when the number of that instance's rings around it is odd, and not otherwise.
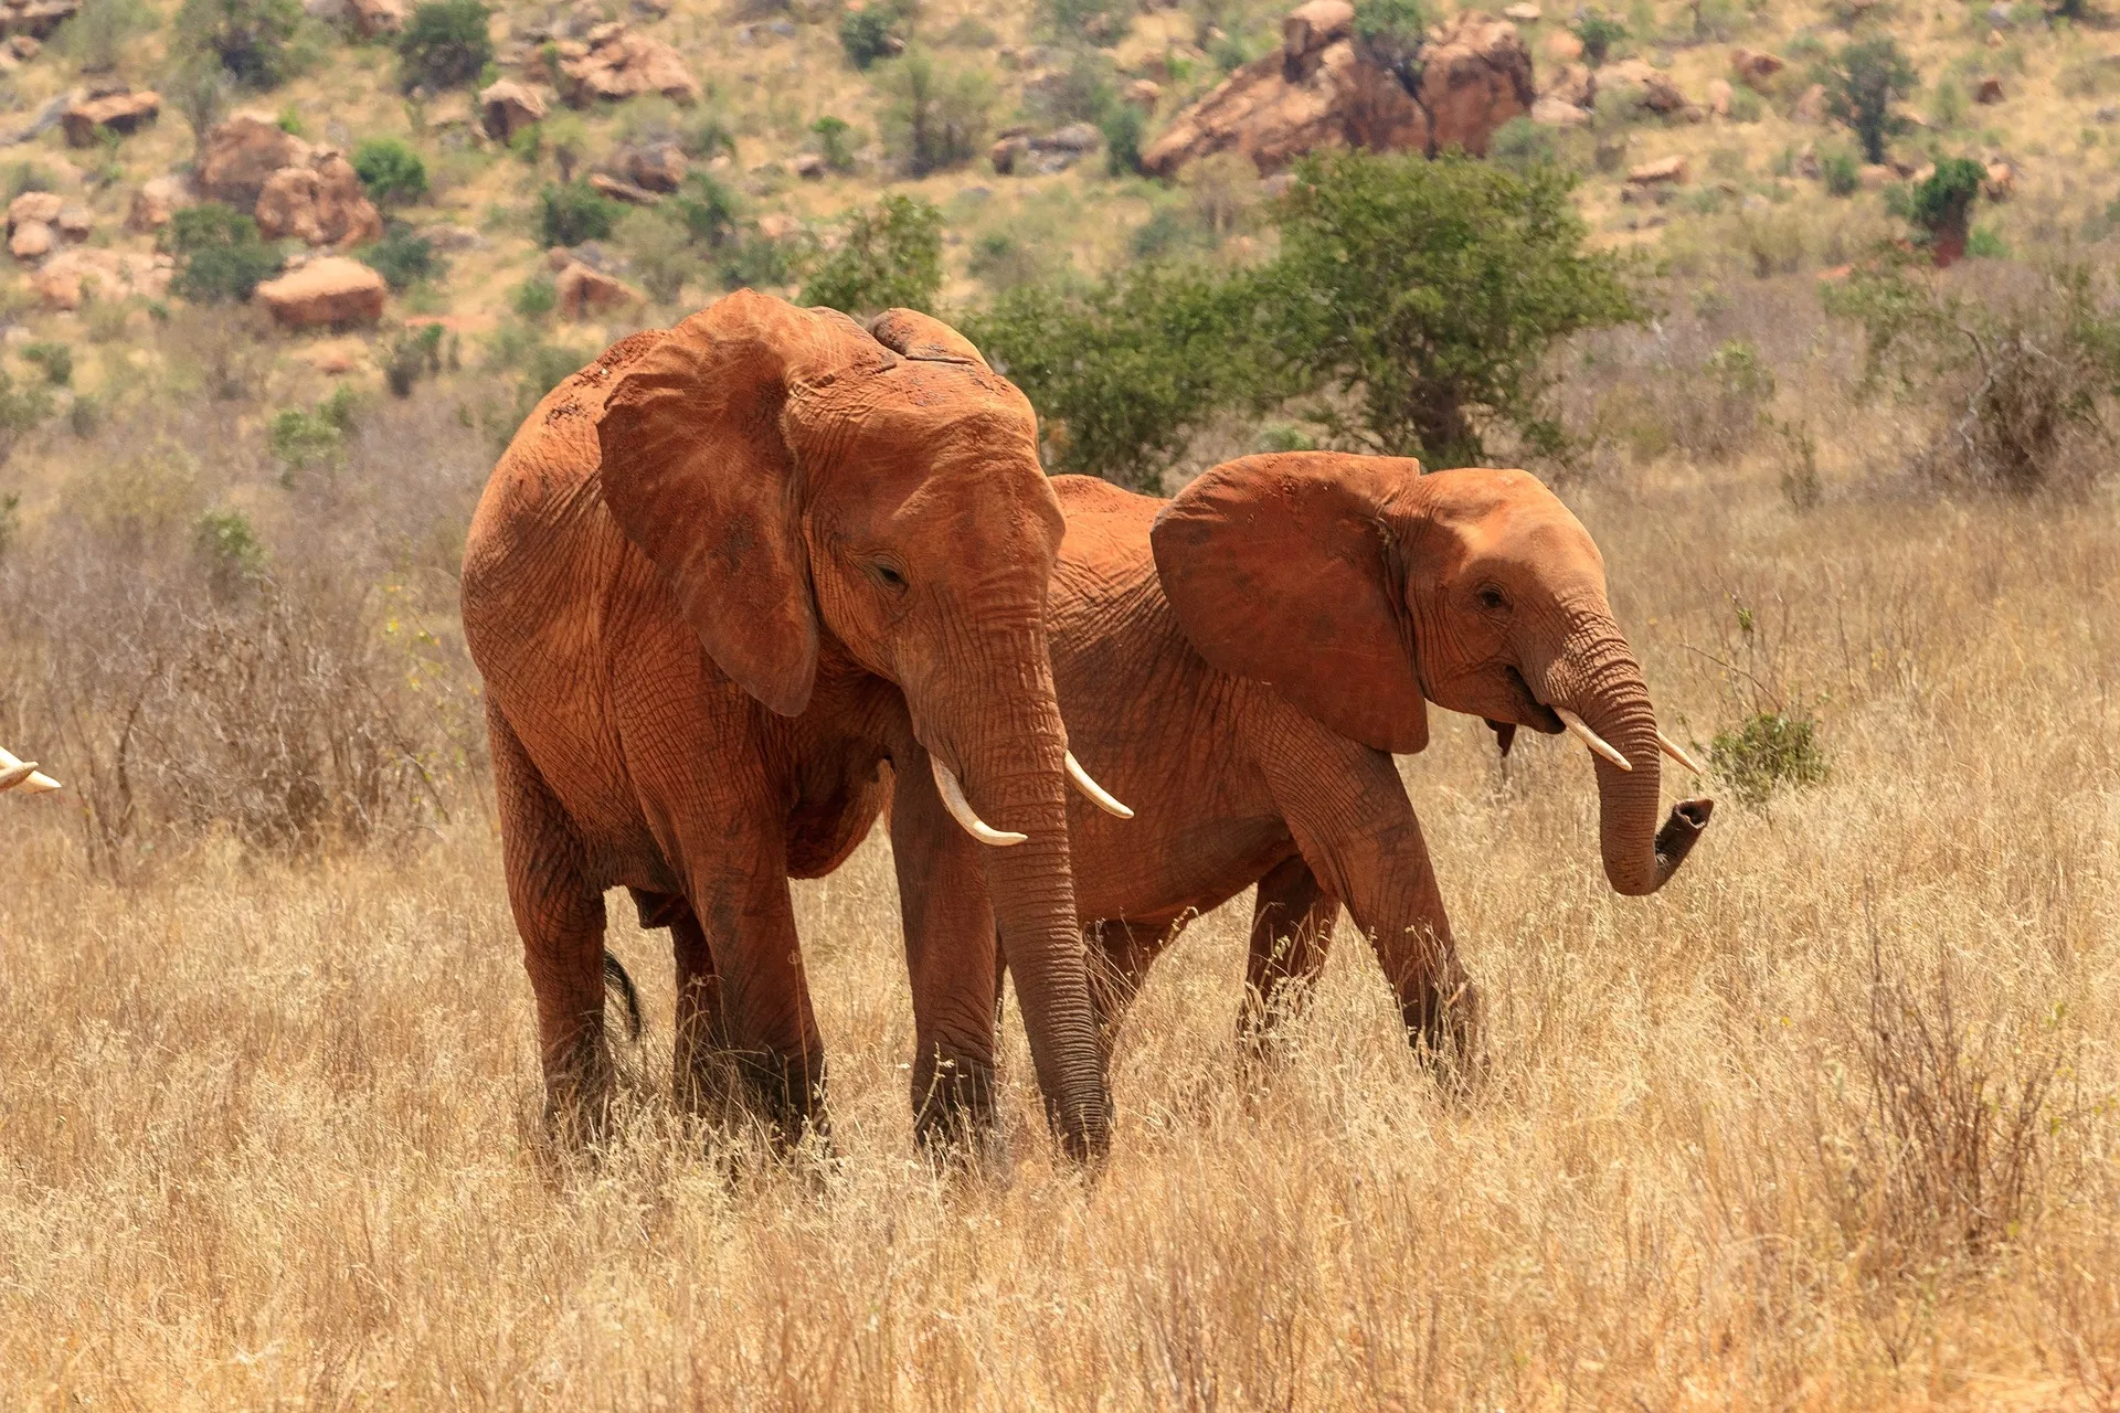
[[[594,1138],[611,1106],[604,1040],[604,894],[583,873],[581,841],[498,708],[485,710],[500,799],[509,909],[536,996],[545,1121]]]

